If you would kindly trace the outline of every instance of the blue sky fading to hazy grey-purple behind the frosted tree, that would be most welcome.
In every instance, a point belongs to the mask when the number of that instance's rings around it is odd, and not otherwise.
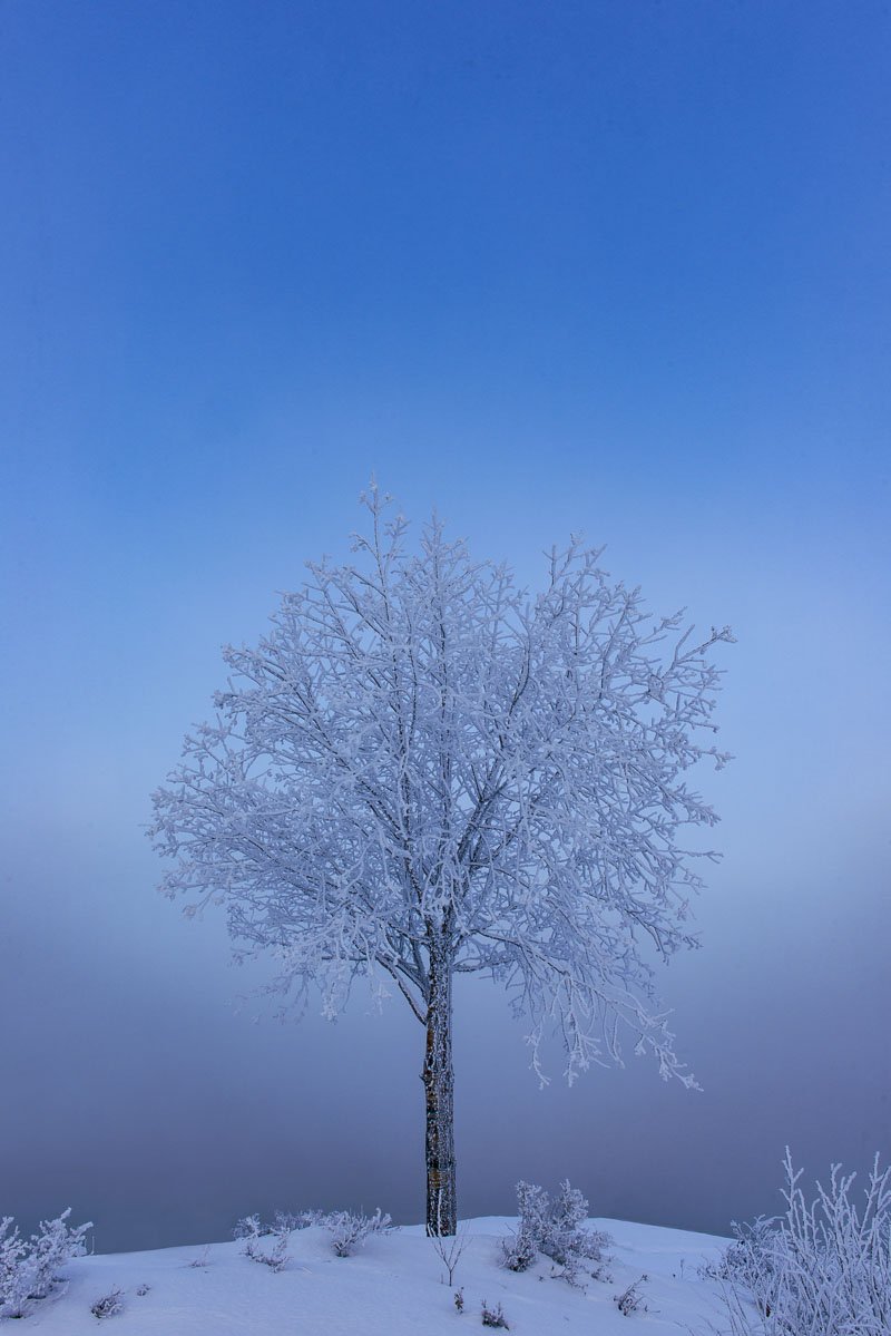
[[[704,1093],[540,1092],[465,985],[462,1213],[568,1174],[725,1232],[787,1142],[888,1158],[890,88],[884,0],[4,0],[0,1214],[422,1216],[401,999],[232,1014],[140,830],[371,470],[533,587],[584,528],[739,637],[663,979]]]

